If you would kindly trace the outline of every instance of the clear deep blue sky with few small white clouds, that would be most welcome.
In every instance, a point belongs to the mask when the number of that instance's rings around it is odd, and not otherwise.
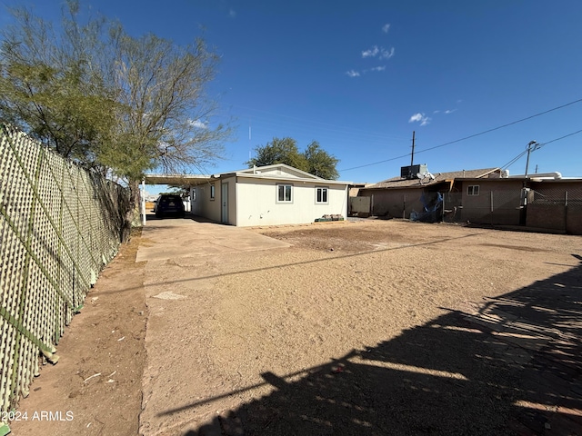
[[[58,17],[60,1],[15,2]],[[578,0],[86,0],[133,35],[203,36],[222,61],[208,93],[235,118],[219,173],[273,137],[317,141],[340,180],[379,182],[410,163],[431,173],[502,167],[534,140],[582,129]],[[0,18],[0,24],[6,17]],[[203,30],[204,29],[204,30]],[[250,130],[250,137],[249,137]],[[582,134],[531,154],[529,172],[582,176]],[[423,152],[424,151],[424,152]],[[399,157],[403,156],[403,157]],[[386,162],[382,162],[386,161]],[[381,163],[380,163],[381,162]],[[526,157],[509,167],[524,173]]]

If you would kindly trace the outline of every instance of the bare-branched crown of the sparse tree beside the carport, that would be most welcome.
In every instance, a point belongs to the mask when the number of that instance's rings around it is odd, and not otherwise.
[[[134,157],[172,173],[220,157],[230,129],[212,124],[217,105],[206,97],[206,85],[215,77],[218,57],[202,39],[179,47],[156,35],[135,39],[118,29],[114,59],[116,134]],[[126,173],[140,175],[133,168]]]

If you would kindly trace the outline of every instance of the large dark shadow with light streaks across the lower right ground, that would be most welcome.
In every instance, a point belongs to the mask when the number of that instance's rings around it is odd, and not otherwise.
[[[579,264],[299,380],[266,372],[271,394],[184,434],[582,434],[581,338]]]

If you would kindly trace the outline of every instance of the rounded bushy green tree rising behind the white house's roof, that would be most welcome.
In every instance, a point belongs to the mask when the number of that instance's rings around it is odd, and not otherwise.
[[[316,141],[307,145],[304,152],[299,152],[295,139],[273,138],[266,145],[256,146],[255,152],[256,156],[246,162],[249,168],[286,163],[324,179],[336,180],[339,176],[336,170],[339,160],[328,154]]]

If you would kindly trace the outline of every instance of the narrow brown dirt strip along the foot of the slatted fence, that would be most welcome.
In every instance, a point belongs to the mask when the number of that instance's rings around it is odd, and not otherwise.
[[[59,362],[45,364],[20,401],[27,421],[11,422],[11,434],[138,434],[147,320],[139,241],[135,233],[121,246],[87,294],[58,343]]]

